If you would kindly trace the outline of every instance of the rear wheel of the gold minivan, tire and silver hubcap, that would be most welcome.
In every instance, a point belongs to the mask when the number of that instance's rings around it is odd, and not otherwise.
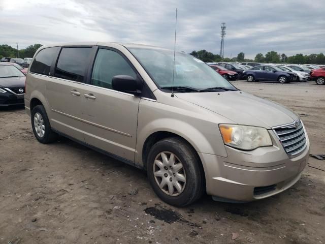
[[[39,142],[46,144],[57,140],[58,134],[52,131],[43,105],[35,106],[31,111],[30,118],[32,131]]]

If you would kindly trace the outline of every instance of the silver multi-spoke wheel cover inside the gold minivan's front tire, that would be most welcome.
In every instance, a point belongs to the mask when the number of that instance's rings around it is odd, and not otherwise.
[[[170,151],[159,153],[153,162],[154,179],[165,194],[178,196],[186,185],[186,174],[182,162]]]

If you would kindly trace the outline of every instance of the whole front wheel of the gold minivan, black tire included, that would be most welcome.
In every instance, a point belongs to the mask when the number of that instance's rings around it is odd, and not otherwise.
[[[153,191],[173,206],[193,203],[205,189],[205,176],[200,164],[199,157],[184,140],[170,137],[158,141],[151,147],[147,158],[147,175]]]

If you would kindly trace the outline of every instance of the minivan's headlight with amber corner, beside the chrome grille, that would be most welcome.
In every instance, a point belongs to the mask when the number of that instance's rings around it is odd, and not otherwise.
[[[261,146],[272,146],[269,132],[265,128],[238,125],[219,125],[224,144],[242,150],[253,150]]]

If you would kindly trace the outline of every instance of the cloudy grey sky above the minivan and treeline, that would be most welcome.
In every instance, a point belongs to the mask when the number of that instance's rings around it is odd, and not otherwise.
[[[0,44],[113,41],[173,49],[176,8],[178,51],[219,53],[226,22],[225,56],[325,53],[323,0],[0,0]]]

